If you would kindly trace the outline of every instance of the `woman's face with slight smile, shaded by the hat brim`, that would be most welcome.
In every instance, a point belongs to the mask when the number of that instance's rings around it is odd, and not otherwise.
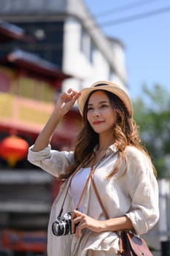
[[[91,94],[88,100],[87,118],[96,133],[113,132],[116,112],[104,91],[95,91]]]

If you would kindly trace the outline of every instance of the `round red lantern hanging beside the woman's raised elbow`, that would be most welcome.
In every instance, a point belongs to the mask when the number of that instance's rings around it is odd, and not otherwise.
[[[26,157],[27,152],[28,142],[18,136],[12,135],[0,142],[0,157],[5,159],[11,167]]]

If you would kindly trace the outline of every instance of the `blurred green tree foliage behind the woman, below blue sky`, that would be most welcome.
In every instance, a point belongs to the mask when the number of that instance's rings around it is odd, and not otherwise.
[[[158,178],[170,177],[170,94],[158,84],[152,91],[144,85],[142,95],[133,103],[134,119]]]

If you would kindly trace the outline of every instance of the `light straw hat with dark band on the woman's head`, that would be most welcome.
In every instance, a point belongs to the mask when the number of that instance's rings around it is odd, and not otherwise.
[[[123,89],[120,88],[120,86],[117,86],[115,83],[112,83],[110,81],[98,81],[96,83],[93,83],[92,86],[82,89],[80,91],[81,95],[77,99],[77,104],[78,104],[81,115],[83,113],[85,102],[88,99],[89,94],[92,91],[97,91],[97,90],[110,91],[112,92],[112,94],[115,94],[117,97],[119,97],[123,101],[125,108],[127,108],[128,110],[129,116],[130,117],[132,116],[133,108],[132,108],[130,97]]]

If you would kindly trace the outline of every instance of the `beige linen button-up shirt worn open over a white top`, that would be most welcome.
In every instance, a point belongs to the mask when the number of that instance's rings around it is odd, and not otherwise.
[[[115,176],[107,178],[117,160],[117,148],[113,144],[107,149],[106,157],[97,165],[93,178],[109,217],[126,215],[131,219],[136,233],[140,235],[147,233],[158,222],[158,184],[147,157],[132,146],[127,146],[125,151],[128,168],[124,176],[122,176],[124,170],[122,164]],[[57,177],[72,163],[73,152],[53,151],[50,146],[39,152],[31,151],[29,148],[28,161]],[[53,235],[52,224],[57,220],[61,210],[67,185],[68,180],[63,183],[51,208],[47,238],[48,256],[95,255],[93,250],[97,251],[98,256],[117,255],[118,238],[114,232],[94,233],[85,229],[79,239],[74,235],[61,237]],[[63,214],[72,210],[74,210],[74,202],[67,195]],[[88,184],[85,192],[83,212],[94,219],[105,219],[91,184]]]

